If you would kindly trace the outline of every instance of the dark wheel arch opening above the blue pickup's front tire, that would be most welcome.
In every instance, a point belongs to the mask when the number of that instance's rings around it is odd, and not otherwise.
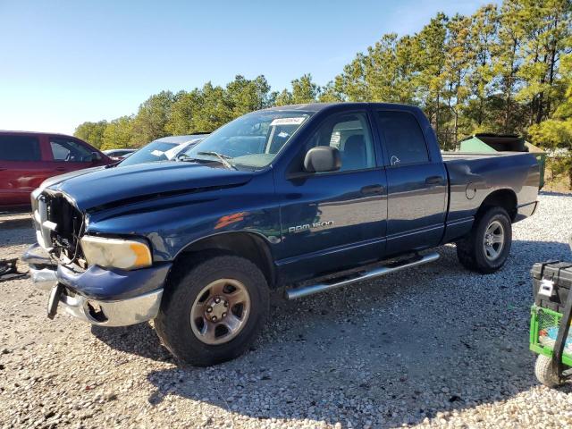
[[[190,242],[173,260],[173,267],[182,258],[199,252],[222,251],[244,257],[260,268],[270,288],[276,284],[276,269],[270,243],[265,236],[252,231],[229,231],[203,237]]]

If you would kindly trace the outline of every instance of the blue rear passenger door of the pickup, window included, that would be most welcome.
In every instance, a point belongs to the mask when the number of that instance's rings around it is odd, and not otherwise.
[[[387,253],[431,248],[442,239],[447,173],[431,159],[416,116],[408,111],[375,113],[386,159]]]

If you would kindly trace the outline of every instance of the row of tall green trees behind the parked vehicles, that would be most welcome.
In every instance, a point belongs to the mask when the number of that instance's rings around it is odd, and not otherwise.
[[[383,35],[323,87],[309,73],[282,91],[262,75],[238,75],[224,87],[207,82],[162,91],[137,114],[83,122],[75,135],[102,149],[140,147],[209,132],[272,105],[406,103],[424,110],[444,149],[476,132],[520,134],[545,149],[564,149],[554,168],[572,182],[571,16],[569,0],[505,0],[470,16],[437,13],[416,34]]]

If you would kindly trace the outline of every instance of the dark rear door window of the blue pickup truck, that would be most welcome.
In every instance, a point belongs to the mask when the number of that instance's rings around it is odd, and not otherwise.
[[[413,114],[407,112],[378,112],[380,131],[391,165],[428,163],[425,137]]]

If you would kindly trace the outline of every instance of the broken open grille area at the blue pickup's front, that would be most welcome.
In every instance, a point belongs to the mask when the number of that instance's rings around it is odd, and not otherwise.
[[[40,246],[53,251],[66,264],[83,259],[80,237],[85,229],[84,217],[67,198],[44,191],[32,199],[32,210]]]

